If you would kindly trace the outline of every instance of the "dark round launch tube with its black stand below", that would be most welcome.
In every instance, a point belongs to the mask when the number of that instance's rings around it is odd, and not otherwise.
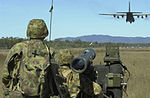
[[[77,98],[95,98],[93,97],[93,81],[96,80],[96,72],[92,66],[95,57],[96,53],[93,49],[86,49],[75,57],[71,63],[70,68],[79,73],[80,92]]]

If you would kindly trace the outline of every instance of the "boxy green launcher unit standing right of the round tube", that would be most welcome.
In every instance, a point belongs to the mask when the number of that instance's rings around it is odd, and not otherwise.
[[[106,46],[104,62],[105,65],[94,66],[97,71],[97,82],[102,87],[104,98],[122,98],[123,91],[126,93],[130,72],[121,62],[119,46]],[[126,80],[125,72],[129,74]]]

